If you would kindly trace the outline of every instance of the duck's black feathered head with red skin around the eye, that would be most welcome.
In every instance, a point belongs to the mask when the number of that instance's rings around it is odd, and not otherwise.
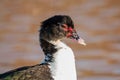
[[[72,19],[67,15],[56,15],[43,21],[40,29],[40,39],[59,40],[64,37],[79,39]]]

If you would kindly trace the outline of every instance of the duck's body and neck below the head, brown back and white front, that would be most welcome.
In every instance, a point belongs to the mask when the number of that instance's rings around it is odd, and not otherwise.
[[[1,74],[0,80],[77,80],[71,48],[61,41],[51,44],[41,40],[41,45],[43,44],[43,48],[47,47],[47,52],[53,53],[46,53],[41,64],[21,67]]]

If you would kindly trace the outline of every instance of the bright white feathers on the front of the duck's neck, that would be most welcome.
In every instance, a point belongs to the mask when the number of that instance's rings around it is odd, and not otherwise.
[[[77,80],[73,51],[60,41],[54,44],[58,51],[54,54],[55,61],[49,66],[53,78],[55,80]]]

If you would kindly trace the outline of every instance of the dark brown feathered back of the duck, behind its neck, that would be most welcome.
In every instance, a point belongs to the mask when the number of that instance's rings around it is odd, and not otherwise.
[[[50,74],[47,64],[37,64],[0,74],[0,80],[54,80]]]

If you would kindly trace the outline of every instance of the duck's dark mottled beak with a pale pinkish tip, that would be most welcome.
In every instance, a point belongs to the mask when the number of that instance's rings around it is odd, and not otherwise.
[[[76,40],[81,45],[84,45],[84,46],[86,45],[84,39],[79,37],[79,35],[77,34],[77,32],[75,30],[72,32],[72,35],[70,38]]]

